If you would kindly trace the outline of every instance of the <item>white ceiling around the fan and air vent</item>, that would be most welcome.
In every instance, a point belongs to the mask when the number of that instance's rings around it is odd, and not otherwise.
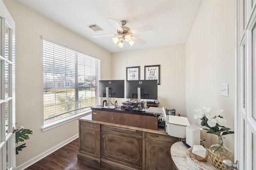
[[[111,53],[186,43],[202,0],[15,0],[46,18],[70,29]],[[134,34],[144,41],[132,47],[114,47],[112,36],[93,35],[116,33],[108,18],[126,20],[125,26],[135,29],[152,25],[152,31]],[[94,32],[88,26],[99,25]]]

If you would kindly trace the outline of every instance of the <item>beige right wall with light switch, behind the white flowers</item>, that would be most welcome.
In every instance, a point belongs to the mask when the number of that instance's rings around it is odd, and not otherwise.
[[[191,123],[200,125],[194,109],[217,107],[224,109],[226,127],[234,131],[234,28],[234,0],[202,2],[186,43],[186,113]],[[222,83],[229,85],[228,97],[221,96]],[[234,135],[225,137],[226,146],[234,150]],[[201,139],[217,140],[209,134]]]

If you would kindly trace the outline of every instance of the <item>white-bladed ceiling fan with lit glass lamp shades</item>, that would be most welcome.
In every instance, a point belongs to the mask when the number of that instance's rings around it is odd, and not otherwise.
[[[112,38],[112,41],[115,44],[114,47],[116,47],[117,45],[120,48],[124,47],[123,40],[127,41],[130,44],[130,46],[132,46],[134,44],[134,42],[137,42],[139,44],[144,44],[145,43],[144,40],[134,37],[132,34],[152,30],[151,25],[146,25],[143,27],[139,27],[139,28],[130,30],[129,27],[125,26],[126,25],[125,20],[120,21],[122,26],[120,26],[119,23],[112,18],[109,18],[108,21],[110,21],[110,23],[117,29],[117,33],[107,34],[107,35],[94,35],[93,37],[118,36],[118,37]]]

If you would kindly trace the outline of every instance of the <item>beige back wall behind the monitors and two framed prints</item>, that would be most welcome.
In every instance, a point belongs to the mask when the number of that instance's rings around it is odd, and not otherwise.
[[[140,79],[144,80],[144,66],[160,64],[158,99],[160,107],[185,111],[185,44],[142,49],[112,54],[112,78],[126,80],[126,67],[140,66]],[[120,105],[125,99],[119,99]]]

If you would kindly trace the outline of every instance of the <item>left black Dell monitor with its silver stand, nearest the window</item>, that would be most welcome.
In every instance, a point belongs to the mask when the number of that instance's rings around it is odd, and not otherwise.
[[[109,98],[124,98],[124,80],[99,80],[99,97],[106,97],[106,107],[109,106]]]

